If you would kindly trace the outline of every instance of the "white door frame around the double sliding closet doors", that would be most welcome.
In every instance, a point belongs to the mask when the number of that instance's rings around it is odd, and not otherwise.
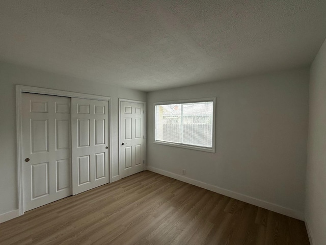
[[[24,214],[24,195],[23,195],[23,155],[22,155],[22,117],[21,117],[21,93],[36,93],[44,95],[57,95],[63,97],[74,97],[80,99],[90,99],[98,101],[108,102],[108,142],[110,144],[109,149],[109,181],[112,182],[112,101],[111,97],[100,96],[86,93],[77,93],[64,90],[32,87],[25,85],[16,85],[16,137],[17,137],[17,188],[18,188],[18,209],[19,216]]]

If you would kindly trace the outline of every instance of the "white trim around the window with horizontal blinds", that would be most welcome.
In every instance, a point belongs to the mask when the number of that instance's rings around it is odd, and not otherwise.
[[[160,105],[169,105],[169,104],[186,104],[186,103],[198,103],[198,102],[213,102],[213,124],[212,124],[212,148],[201,147],[196,145],[187,145],[187,144],[179,144],[179,143],[172,143],[167,141],[159,141],[155,140],[156,137],[156,111],[155,106]],[[207,97],[207,98],[200,98],[200,99],[187,99],[187,100],[176,100],[176,101],[163,101],[163,102],[154,102],[154,144],[161,144],[167,146],[175,146],[184,149],[191,149],[203,152],[211,152],[215,153],[215,121],[216,121],[216,97]]]

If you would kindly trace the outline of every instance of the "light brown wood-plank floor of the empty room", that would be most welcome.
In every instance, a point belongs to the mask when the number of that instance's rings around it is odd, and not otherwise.
[[[302,221],[144,171],[0,224],[0,244],[309,244]]]

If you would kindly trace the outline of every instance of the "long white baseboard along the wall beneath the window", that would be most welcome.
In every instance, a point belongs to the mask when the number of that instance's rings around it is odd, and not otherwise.
[[[207,189],[207,190],[210,190],[210,191],[222,194],[222,195],[226,195],[227,197],[234,198],[234,199],[237,199],[239,201],[246,202],[246,203],[261,207],[261,208],[265,208],[265,209],[268,209],[270,211],[281,213],[281,214],[284,214],[284,215],[292,217],[292,218],[304,220],[304,213],[303,212],[298,212],[298,211],[295,211],[293,209],[285,208],[285,207],[279,206],[277,204],[273,204],[273,203],[269,203],[269,202],[266,202],[266,201],[263,201],[263,200],[260,200],[260,199],[249,197],[248,195],[244,195],[244,194],[234,192],[234,191],[231,191],[231,190],[227,190],[227,189],[224,189],[224,188],[221,188],[221,187],[218,187],[218,186],[207,184],[207,183],[204,183],[204,182],[201,182],[201,181],[198,181],[198,180],[187,178],[187,177],[182,176],[182,175],[177,175],[175,173],[171,173],[169,171],[162,170],[162,169],[159,169],[159,168],[147,166],[147,170],[152,171],[152,172],[157,173],[157,174],[160,174],[160,175],[171,177],[171,178],[176,179],[176,180],[186,182],[188,184],[196,185],[198,187],[201,187],[201,188],[204,188],[204,189]]]

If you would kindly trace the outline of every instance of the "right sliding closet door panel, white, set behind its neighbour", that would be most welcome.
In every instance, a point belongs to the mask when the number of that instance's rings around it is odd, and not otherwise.
[[[72,193],[109,182],[108,102],[71,98]]]

